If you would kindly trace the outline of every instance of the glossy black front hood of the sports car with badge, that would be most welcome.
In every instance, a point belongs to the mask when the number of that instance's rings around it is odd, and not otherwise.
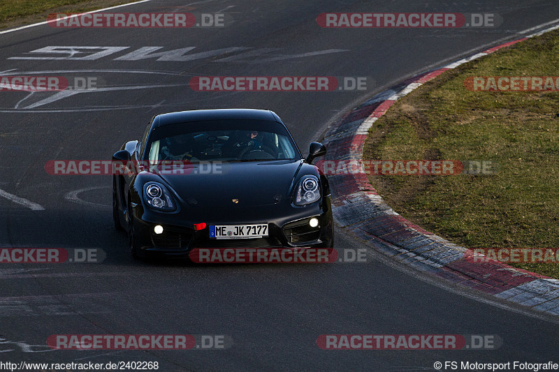
[[[159,177],[190,207],[258,207],[291,198],[293,179],[302,165],[299,160],[222,163],[221,170],[203,174],[204,166],[208,170],[210,165],[194,164],[189,174]]]

